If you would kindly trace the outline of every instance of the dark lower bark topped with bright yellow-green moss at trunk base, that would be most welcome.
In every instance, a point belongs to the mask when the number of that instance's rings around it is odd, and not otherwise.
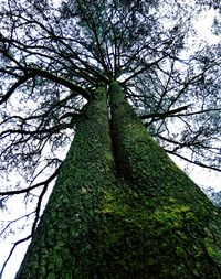
[[[98,212],[99,261],[109,275],[101,278],[220,278],[191,207],[170,197],[154,208],[141,192],[120,183],[105,190]]]

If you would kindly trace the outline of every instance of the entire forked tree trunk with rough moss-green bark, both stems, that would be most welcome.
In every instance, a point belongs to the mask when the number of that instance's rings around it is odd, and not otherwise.
[[[220,212],[109,97],[110,131],[105,89],[84,107],[17,279],[221,278]]]

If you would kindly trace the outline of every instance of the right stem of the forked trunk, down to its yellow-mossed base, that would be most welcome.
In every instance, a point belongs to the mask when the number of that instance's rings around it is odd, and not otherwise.
[[[128,278],[221,278],[220,212],[147,133],[117,83],[109,96],[115,164],[128,185],[115,221]]]

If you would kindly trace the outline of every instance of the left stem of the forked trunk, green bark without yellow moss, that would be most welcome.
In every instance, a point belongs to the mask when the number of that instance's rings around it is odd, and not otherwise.
[[[96,232],[103,189],[113,183],[106,90],[84,108],[84,119],[17,279],[96,278]]]

